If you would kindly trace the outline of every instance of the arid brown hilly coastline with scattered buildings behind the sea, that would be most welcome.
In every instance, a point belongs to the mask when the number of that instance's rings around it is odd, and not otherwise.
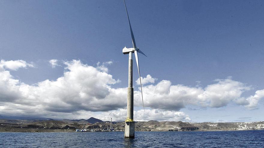
[[[89,120],[89,119],[88,119]],[[100,121],[100,122],[97,122]],[[67,121],[67,122],[66,122]],[[76,132],[76,129],[85,129],[85,132],[108,132],[110,122],[96,118],[90,120],[10,120],[0,119],[0,132]],[[113,131],[124,131],[125,122],[112,122]],[[182,121],[137,121],[135,131],[235,131],[261,130],[264,122],[232,122],[232,123],[190,123]]]

